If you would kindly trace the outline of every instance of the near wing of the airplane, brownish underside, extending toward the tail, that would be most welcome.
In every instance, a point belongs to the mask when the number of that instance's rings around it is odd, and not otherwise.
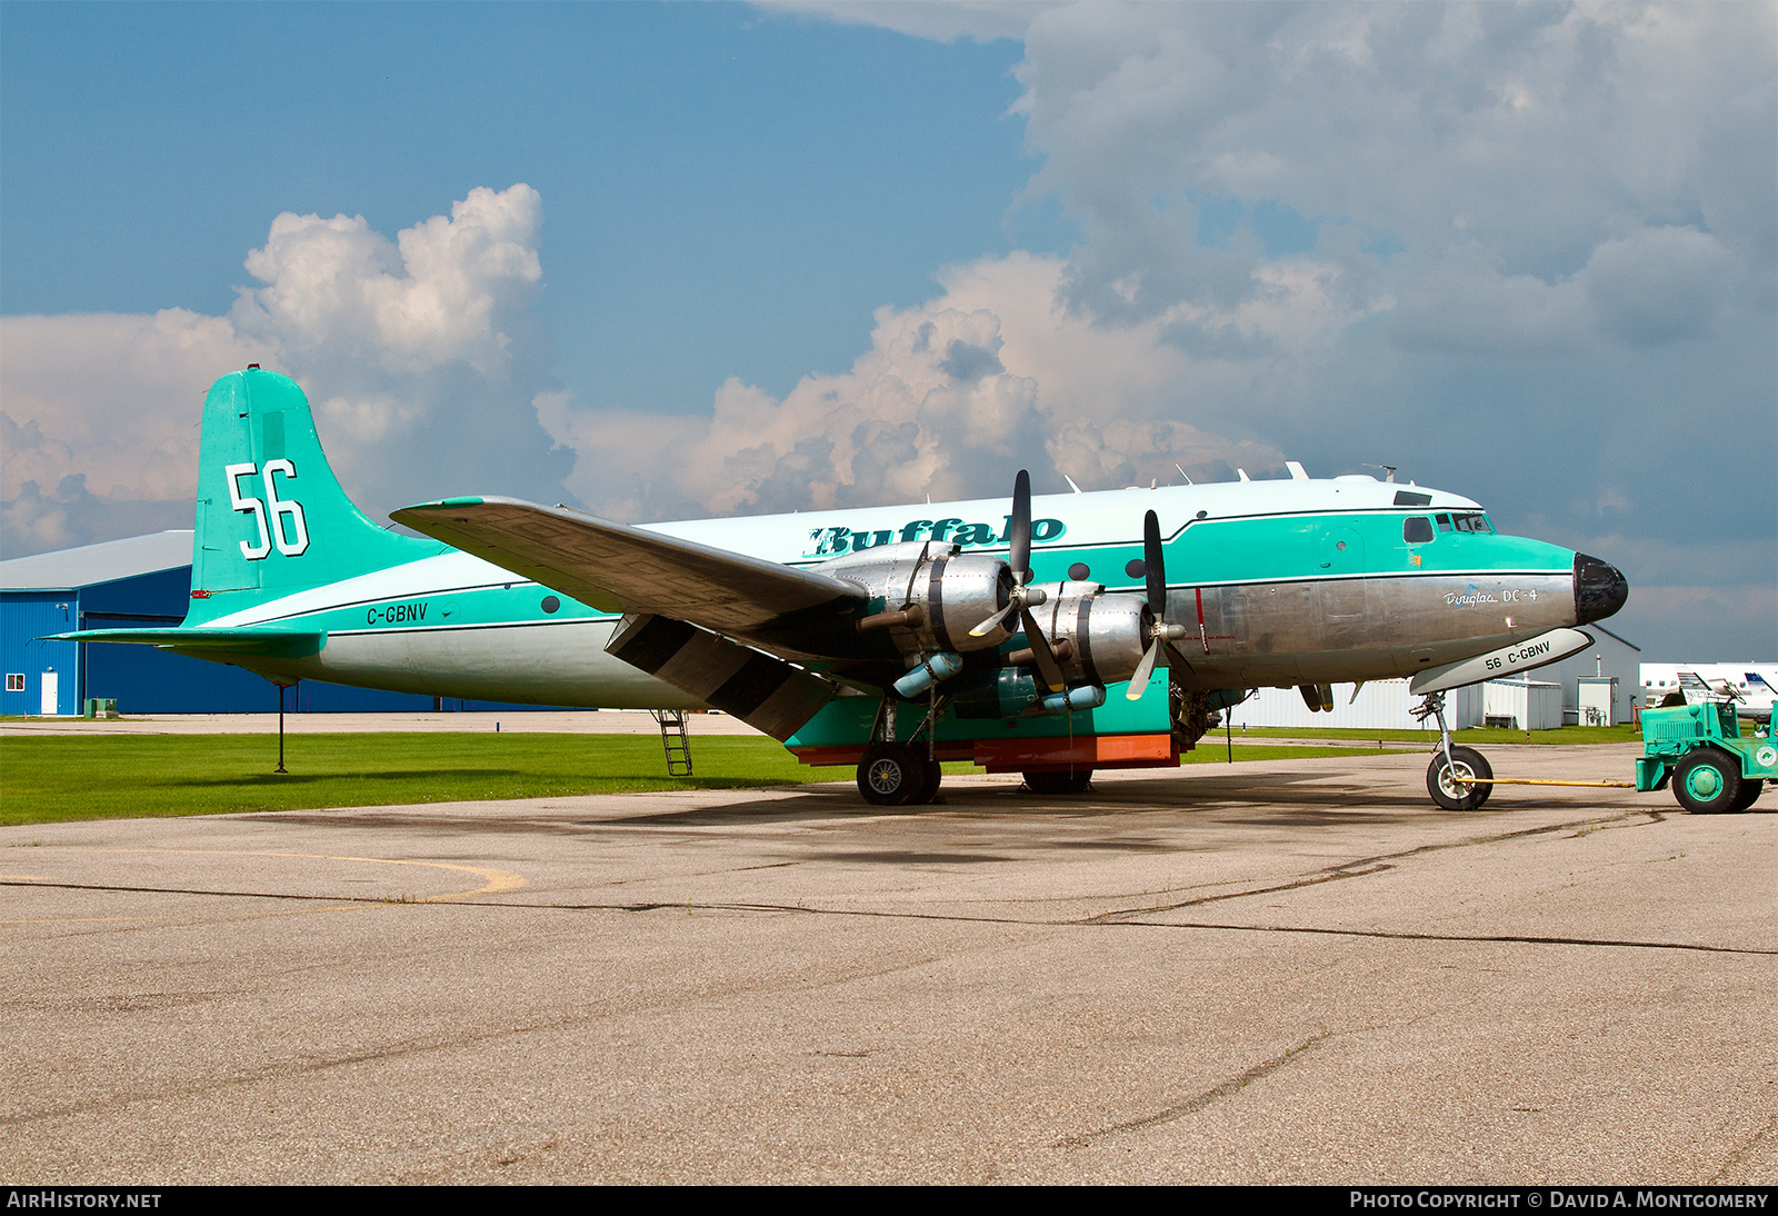
[[[786,617],[866,599],[859,585],[827,574],[569,507],[446,498],[389,517],[603,612],[672,617],[731,636],[773,633]]]

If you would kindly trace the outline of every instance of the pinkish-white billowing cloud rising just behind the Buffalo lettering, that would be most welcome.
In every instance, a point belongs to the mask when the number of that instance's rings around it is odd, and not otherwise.
[[[1058,475],[1106,489],[1177,482],[1175,464],[1195,476],[1282,466],[1269,444],[1189,421],[1230,412],[1225,364],[1165,341],[1172,318],[1104,327],[1061,308],[1063,274],[1031,254],[949,270],[935,299],[878,309],[850,372],[805,377],[782,400],[729,380],[709,420],[667,434],[654,416],[574,412],[565,398],[541,412],[578,452],[571,489],[642,519],[992,498],[1021,468],[1061,491]],[[1225,324],[1268,332],[1268,320],[1252,309]]]

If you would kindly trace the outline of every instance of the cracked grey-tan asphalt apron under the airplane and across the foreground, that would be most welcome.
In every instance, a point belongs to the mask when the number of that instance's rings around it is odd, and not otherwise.
[[[647,724],[653,729],[653,724]],[[1504,748],[1502,748],[1504,750]],[[1634,745],[1501,777],[1623,779]],[[1778,795],[1424,756],[0,828],[7,1182],[1778,1179]]]

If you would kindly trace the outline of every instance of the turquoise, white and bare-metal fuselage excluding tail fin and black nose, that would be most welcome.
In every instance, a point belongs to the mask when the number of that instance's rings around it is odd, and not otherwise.
[[[1236,482],[1056,494],[1033,500],[1033,517],[1060,523],[1035,540],[1040,583],[1086,580],[1141,590],[1125,572],[1141,556],[1145,510],[1166,537],[1168,620],[1184,624],[1179,649],[1204,688],[1339,683],[1412,676],[1574,620],[1574,553],[1492,532],[1438,532],[1406,544],[1405,521],[1481,514],[1440,491],[1415,508],[1394,505],[1401,487],[1371,478]],[[1204,512],[1204,517],[1198,517]],[[928,539],[932,521],[992,523],[1005,501],[878,507],[747,519],[654,524],[651,532],[789,565],[818,567],[811,542],[848,535]],[[925,523],[925,528],[917,524]],[[955,535],[957,526],[942,530]],[[265,599],[206,620],[206,628],[320,631],[304,658],[261,658],[270,676],[325,679],[446,697],[608,708],[674,708],[686,697],[605,652],[621,613],[601,613],[537,583],[436,542],[400,565]],[[996,542],[965,551],[1006,553]],[[1417,562],[1415,562],[1417,558]],[[1202,597],[1202,631],[1198,604]]]

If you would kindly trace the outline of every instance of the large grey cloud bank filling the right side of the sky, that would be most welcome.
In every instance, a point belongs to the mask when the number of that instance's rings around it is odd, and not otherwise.
[[[795,7],[941,41],[987,28],[976,5]],[[1013,112],[1042,158],[1017,204],[1060,203],[1081,240],[1051,284],[1021,293],[1017,256],[990,258],[928,308],[999,320],[1058,468],[1143,480],[1122,453],[1197,434],[1218,457],[1401,464],[1510,528],[1616,546],[1638,587],[1694,585],[1675,544],[1709,532],[1751,546],[1725,578],[1751,571],[1764,629],[1725,628],[1769,647],[1778,11],[990,12],[1022,23],[999,32],[1024,41]],[[1093,407],[1070,412],[1058,363],[1108,377]],[[1702,487],[1734,489],[1671,510]]]

